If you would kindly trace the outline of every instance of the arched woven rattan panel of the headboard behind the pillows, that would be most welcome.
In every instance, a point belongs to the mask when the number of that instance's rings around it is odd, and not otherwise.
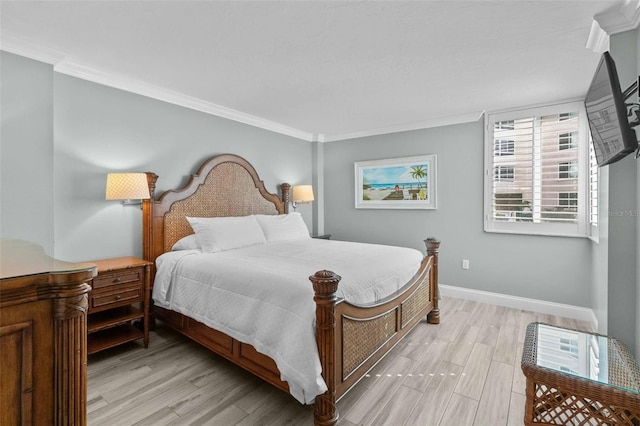
[[[193,234],[188,217],[278,214],[276,206],[256,188],[249,172],[239,164],[221,163],[207,175],[196,192],[176,201],[164,217],[164,249]]]

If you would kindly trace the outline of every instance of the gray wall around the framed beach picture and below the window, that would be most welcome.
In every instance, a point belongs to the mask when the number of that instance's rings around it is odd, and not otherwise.
[[[483,138],[480,120],[326,143],[325,231],[421,250],[435,236],[443,284],[590,307],[588,239],[483,231]],[[421,154],[438,156],[437,210],[355,209],[354,162]]]

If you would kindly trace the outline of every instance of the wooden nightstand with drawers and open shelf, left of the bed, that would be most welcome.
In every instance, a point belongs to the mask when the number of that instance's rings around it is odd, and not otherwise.
[[[135,257],[93,261],[98,275],[91,283],[87,312],[87,353],[143,339],[149,345],[151,262]],[[139,320],[142,329],[133,325]]]

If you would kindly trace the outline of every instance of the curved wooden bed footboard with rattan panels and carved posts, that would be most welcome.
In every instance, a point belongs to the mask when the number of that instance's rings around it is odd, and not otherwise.
[[[314,424],[338,421],[337,401],[425,317],[440,322],[438,250],[435,238],[425,240],[427,257],[408,288],[375,306],[338,301],[341,277],[319,271],[309,280],[316,302],[316,341],[327,391],[316,397]]]

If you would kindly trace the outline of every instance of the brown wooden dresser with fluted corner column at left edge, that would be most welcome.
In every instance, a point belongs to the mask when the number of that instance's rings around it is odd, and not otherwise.
[[[86,425],[91,263],[0,240],[0,424]]]

